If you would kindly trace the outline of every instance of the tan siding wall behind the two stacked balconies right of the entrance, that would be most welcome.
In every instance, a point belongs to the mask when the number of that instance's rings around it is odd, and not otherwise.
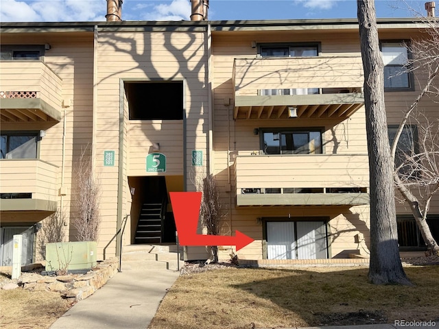
[[[278,217],[280,220],[294,221],[306,220],[306,217],[326,217],[329,219],[329,252],[330,257],[340,255],[347,256],[348,250],[359,250],[366,254],[367,245],[359,247],[355,243],[355,234],[362,232],[368,236],[368,206],[354,206],[352,208],[319,207],[319,206],[283,206],[283,207],[250,207],[235,208],[235,174],[233,163],[238,153],[258,151],[259,135],[254,135],[254,128],[261,127],[321,127],[324,132],[324,154],[359,155],[364,158],[367,154],[366,127],[364,125],[364,107],[360,108],[352,117],[341,121],[340,119],[300,119],[288,120],[236,120],[233,121],[233,100],[228,104],[228,99],[233,99],[235,86],[233,86],[233,62],[235,58],[256,58],[257,49],[252,49],[251,42],[256,40],[263,42],[320,42],[322,56],[353,56],[358,58],[359,45],[357,34],[349,32],[343,34],[326,32],[261,32],[255,33],[230,33],[217,32],[213,34],[213,89],[214,89],[214,173],[221,186],[226,216],[224,217],[224,234],[235,234],[239,230],[248,234],[255,241],[237,252],[239,258],[261,259],[263,258],[263,227],[258,219]],[[340,43],[343,40],[343,43]],[[335,60],[336,61],[336,60]],[[251,67],[251,66],[250,66]],[[352,67],[352,65],[350,66]],[[282,70],[278,66],[274,70]],[[339,68],[340,69],[340,68]],[[349,69],[346,66],[346,69]],[[316,68],[318,70],[318,68]],[[356,71],[359,74],[359,71]],[[313,87],[322,84],[316,81]],[[362,86],[358,78],[354,80],[353,86]],[[269,84],[259,82],[246,84],[246,89],[278,88]],[[326,84],[326,83],[325,83]],[[276,85],[276,84],[275,84]],[[300,88],[294,85],[291,88]],[[311,85],[309,85],[311,87]],[[344,88],[350,86],[343,86]],[[244,88],[244,87],[243,87]],[[241,91],[241,90],[240,90]],[[228,154],[230,153],[230,154]],[[302,156],[300,158],[305,158]],[[349,156],[348,156],[349,157]],[[254,180],[267,180],[266,175],[270,173],[261,172],[260,167],[249,168],[254,171],[254,178],[248,178],[248,182]],[[259,170],[259,171],[258,171]],[[368,176],[367,163],[359,170],[361,177]],[[280,173],[282,176],[282,173]],[[317,173],[321,175],[319,180],[331,181],[329,172]],[[244,177],[243,177],[244,178]],[[239,178],[240,180],[242,178]],[[287,181],[285,175],[285,181]],[[368,180],[368,178],[367,178]],[[228,191],[228,184],[231,184],[231,191]],[[283,183],[282,183],[283,184]],[[317,184],[317,182],[316,182]],[[368,241],[367,241],[368,243]],[[223,248],[224,249],[224,248]],[[222,256],[227,257],[230,249],[224,249]]]

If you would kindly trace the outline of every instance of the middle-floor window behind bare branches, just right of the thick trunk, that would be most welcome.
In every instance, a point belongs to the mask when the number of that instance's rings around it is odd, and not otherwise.
[[[388,126],[388,134],[389,134],[389,143],[390,147],[392,147],[396,130],[398,130],[398,125],[389,125]],[[405,125],[403,128],[403,132],[401,132],[401,136],[399,136],[398,144],[396,145],[396,153],[395,153],[395,168],[399,168],[399,172],[403,175],[416,175],[412,169],[410,164],[405,164],[404,162],[407,159],[407,156],[412,156],[416,154],[416,143],[418,141],[418,130],[416,129],[416,125]]]

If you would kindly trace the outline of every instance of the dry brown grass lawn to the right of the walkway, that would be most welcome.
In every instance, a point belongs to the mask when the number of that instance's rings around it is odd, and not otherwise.
[[[407,267],[414,287],[367,283],[366,268],[219,269],[178,278],[154,329],[276,328],[439,321],[439,266]]]

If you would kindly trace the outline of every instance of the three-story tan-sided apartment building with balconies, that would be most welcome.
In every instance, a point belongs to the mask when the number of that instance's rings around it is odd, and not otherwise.
[[[379,19],[390,134],[423,76],[394,75],[425,26]],[[23,264],[57,210],[73,218],[84,151],[99,182],[98,259],[175,243],[169,192],[213,173],[224,217],[254,241],[220,257],[368,256],[369,167],[355,19],[1,25],[1,265]],[[438,105],[423,99],[432,118]],[[407,126],[407,147],[416,144]],[[439,237],[439,199],[429,221]],[[401,248],[423,242],[397,203]],[[123,235],[118,234],[124,228]],[[200,227],[200,232],[202,228]],[[402,238],[403,237],[403,238]],[[187,247],[187,259],[206,259]]]

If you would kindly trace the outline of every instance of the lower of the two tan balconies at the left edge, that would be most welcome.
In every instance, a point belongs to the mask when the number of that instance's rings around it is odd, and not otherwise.
[[[2,159],[0,172],[1,212],[56,211],[58,166],[37,159]]]

